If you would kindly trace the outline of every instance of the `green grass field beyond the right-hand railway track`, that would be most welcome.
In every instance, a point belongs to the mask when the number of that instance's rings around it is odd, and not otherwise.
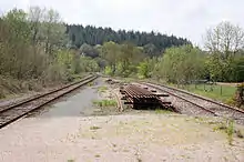
[[[175,84],[171,84],[176,87]],[[206,97],[213,100],[218,100],[224,103],[232,104],[233,97],[235,94],[236,88],[231,85],[222,85],[222,93],[221,93],[221,85],[210,85],[210,84],[190,84],[184,87],[184,90],[193,92],[195,94]]]

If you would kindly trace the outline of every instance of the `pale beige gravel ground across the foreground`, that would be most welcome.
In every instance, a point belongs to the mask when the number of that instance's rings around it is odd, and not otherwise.
[[[29,118],[0,130],[0,161],[244,161],[244,141],[165,114]]]

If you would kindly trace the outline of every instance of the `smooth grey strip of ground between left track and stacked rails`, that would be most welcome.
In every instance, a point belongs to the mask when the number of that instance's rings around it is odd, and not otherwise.
[[[49,109],[44,109],[38,118],[57,118],[57,117],[84,117],[94,112],[93,100],[98,100],[98,88],[104,84],[101,79],[94,81],[94,85],[85,87],[74,95],[64,101],[54,103]]]

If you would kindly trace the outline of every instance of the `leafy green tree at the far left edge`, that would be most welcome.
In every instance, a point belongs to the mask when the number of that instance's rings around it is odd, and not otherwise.
[[[10,75],[18,79],[26,78],[31,71],[32,55],[29,51],[30,26],[27,20],[27,13],[23,10],[13,9],[2,19],[4,26],[3,34],[4,47],[2,47],[1,67]],[[2,37],[2,36],[1,36]],[[24,55],[22,55],[24,54]]]

